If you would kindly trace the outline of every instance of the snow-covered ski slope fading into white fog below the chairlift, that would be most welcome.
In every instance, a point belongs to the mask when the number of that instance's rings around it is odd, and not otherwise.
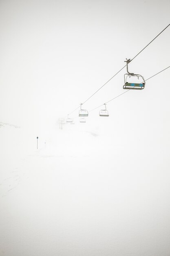
[[[0,139],[0,255],[168,256],[166,151],[76,124]]]

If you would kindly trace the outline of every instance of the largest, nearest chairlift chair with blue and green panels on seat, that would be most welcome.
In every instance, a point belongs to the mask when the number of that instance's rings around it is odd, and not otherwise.
[[[145,80],[144,77],[139,74],[134,74],[128,72],[128,63],[130,63],[130,59],[126,59],[126,66],[127,66],[127,74],[124,74],[124,89],[134,89],[134,90],[142,90],[145,87]],[[129,81],[129,79],[132,77],[132,82]],[[134,78],[137,78],[138,80],[141,80],[141,83],[135,83]],[[128,80],[128,81],[127,81]]]

